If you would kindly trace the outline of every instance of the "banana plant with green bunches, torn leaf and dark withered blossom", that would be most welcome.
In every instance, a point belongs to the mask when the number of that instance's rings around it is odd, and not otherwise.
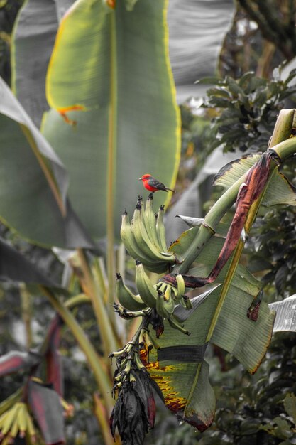
[[[111,354],[118,395],[111,430],[118,427],[124,442],[143,443],[153,427],[153,380],[180,421],[199,431],[212,424],[216,400],[205,359],[209,343],[233,353],[251,373],[261,364],[277,305],[265,303],[261,282],[240,259],[258,212],[270,205],[296,205],[295,189],[279,172],[295,154],[294,127],[295,110],[283,110],[263,154],[222,168],[216,178],[226,189],[221,198],[170,247],[164,244],[163,210],[154,215],[151,196],[146,205],[138,200],[131,221],[126,212],[122,216],[121,239],[136,259],[138,294],[118,275],[114,309],[121,318],[141,319],[131,341]],[[150,272],[158,274],[156,282]],[[190,289],[204,286],[202,294],[187,296]],[[285,311],[284,306],[278,310]],[[278,318],[283,326],[283,314]],[[275,331],[281,329],[279,319],[275,326]],[[130,407],[136,412],[136,429],[130,426]]]

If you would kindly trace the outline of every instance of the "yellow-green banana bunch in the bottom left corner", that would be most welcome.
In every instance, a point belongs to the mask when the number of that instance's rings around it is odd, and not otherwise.
[[[25,437],[30,436],[31,442],[35,441],[35,428],[26,403],[17,402],[0,417],[0,437],[8,436],[9,443],[19,434]],[[4,442],[2,442],[4,443]]]

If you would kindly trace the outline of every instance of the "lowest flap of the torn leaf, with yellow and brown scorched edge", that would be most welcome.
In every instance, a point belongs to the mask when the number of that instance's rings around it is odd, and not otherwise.
[[[195,344],[198,342],[195,338],[196,331],[192,331],[192,335],[185,338],[180,333],[180,336],[176,335],[176,331],[165,323],[165,337],[161,336],[158,340],[160,351],[163,352],[170,346],[173,349],[180,348],[179,359],[172,356],[163,360],[160,356],[153,357],[151,354],[150,363],[146,368],[163,392],[165,404],[177,418],[192,424],[199,431],[204,431],[213,422],[216,402],[214,391],[209,385],[209,365],[202,358],[199,361],[192,360],[194,340]],[[184,356],[182,350],[186,348],[189,354]]]

